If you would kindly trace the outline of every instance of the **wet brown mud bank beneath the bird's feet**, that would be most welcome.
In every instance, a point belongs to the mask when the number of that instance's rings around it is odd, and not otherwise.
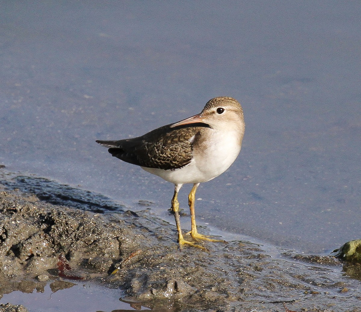
[[[247,241],[200,244],[208,252],[180,251],[175,226],[147,202],[129,209],[47,179],[1,176],[0,299],[92,281],[153,311],[285,311],[284,302],[361,311],[360,266]]]

